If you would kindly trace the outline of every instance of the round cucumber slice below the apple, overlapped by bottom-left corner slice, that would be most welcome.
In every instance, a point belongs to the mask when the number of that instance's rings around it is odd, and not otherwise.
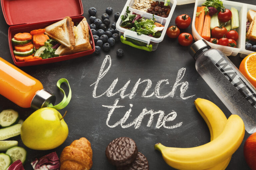
[[[12,158],[13,162],[21,160],[21,162],[24,163],[27,157],[27,151],[20,146],[11,147],[6,151],[6,154]]]

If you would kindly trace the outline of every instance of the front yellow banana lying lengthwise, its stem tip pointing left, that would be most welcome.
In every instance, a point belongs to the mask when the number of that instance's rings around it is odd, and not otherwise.
[[[214,140],[192,148],[166,147],[155,144],[165,162],[183,170],[203,170],[228,159],[240,146],[245,133],[244,123],[238,115],[231,115],[223,131]]]

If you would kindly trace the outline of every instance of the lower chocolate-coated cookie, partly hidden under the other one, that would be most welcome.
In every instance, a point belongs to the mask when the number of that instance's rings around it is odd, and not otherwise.
[[[135,160],[128,165],[119,166],[116,168],[117,170],[148,170],[148,160],[147,158],[140,152],[138,152]]]

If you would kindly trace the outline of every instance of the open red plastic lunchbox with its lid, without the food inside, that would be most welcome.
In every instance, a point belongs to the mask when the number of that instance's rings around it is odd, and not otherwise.
[[[17,61],[14,57],[13,45],[11,42],[11,39],[15,34],[30,32],[35,29],[43,29],[46,26],[62,20],[66,16],[69,16],[75,24],[79,23],[84,18],[82,17],[82,1],[65,0],[65,3],[63,3],[63,1],[60,0],[44,0],[42,3],[41,0],[1,0],[1,6],[5,21],[10,26],[8,30],[9,47],[14,64],[17,66],[29,66],[58,62],[89,55],[95,51],[94,41],[91,39],[90,44],[92,49],[88,51],[37,61]],[[36,12],[31,13],[31,10],[28,9],[36,9],[34,10]],[[89,35],[92,37],[90,27]]]

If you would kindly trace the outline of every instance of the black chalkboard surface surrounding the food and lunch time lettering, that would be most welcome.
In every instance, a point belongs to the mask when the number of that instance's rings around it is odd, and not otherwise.
[[[256,5],[254,0],[234,1]],[[63,1],[63,3],[64,2],[65,1]],[[113,8],[113,14],[115,12],[121,12],[126,1],[83,0],[82,3],[84,8],[83,16],[89,19],[88,9],[90,7],[96,7],[97,18],[101,18],[101,14],[105,13],[105,9],[109,6]],[[170,26],[175,24],[175,18],[178,15],[185,13],[192,16],[193,11],[194,4],[176,6]],[[0,18],[0,56],[10,63],[13,63],[8,45],[9,26],[6,24],[2,13],[0,13]],[[111,15],[110,18],[111,23],[114,22],[114,16]],[[182,32],[191,33],[191,27],[182,30]],[[118,48],[124,49],[124,56],[116,56]],[[158,99],[154,96],[143,98],[142,93],[146,87],[144,83],[139,85],[136,95],[132,99],[128,97],[121,99],[120,93],[112,97],[103,95],[94,98],[92,96],[94,85],[90,85],[97,80],[100,67],[106,55],[111,56],[112,65],[108,73],[100,80],[96,90],[97,95],[106,91],[116,78],[118,78],[118,82],[114,92],[122,88],[124,84],[130,80],[125,94],[130,93],[139,78],[141,78],[141,80],[150,79],[152,81],[152,88],[149,89],[147,95],[154,91],[154,87],[159,80],[168,79],[169,84],[165,85],[160,92],[161,95],[166,95],[172,90],[178,70],[185,68],[185,75],[181,82],[187,81],[189,85],[184,97],[195,96],[186,100],[181,99],[180,86],[178,86],[173,97],[167,97],[165,99]],[[229,58],[237,67],[242,60],[239,56],[230,56]],[[154,144],[161,142],[166,146],[172,147],[193,147],[210,141],[208,127],[197,112],[193,103],[196,98],[208,99],[219,106],[227,117],[231,115],[224,104],[197,73],[195,61],[189,55],[188,47],[179,45],[177,40],[171,40],[167,36],[159,43],[157,50],[152,52],[139,50],[117,42],[114,47],[111,47],[109,52],[102,51],[100,54],[92,54],[51,64],[21,67],[21,69],[40,80],[45,89],[54,93],[57,96],[56,103],[60,102],[63,97],[56,87],[56,82],[60,78],[68,79],[72,89],[72,99],[69,105],[65,109],[59,110],[62,115],[65,110],[67,110],[67,115],[64,120],[69,128],[68,138],[61,146],[46,151],[31,150],[23,145],[19,136],[13,138],[19,141],[19,146],[25,147],[28,151],[28,159],[24,165],[26,170],[32,169],[30,162],[35,158],[44,156],[52,151],[56,151],[60,156],[65,146],[80,137],[86,137],[91,142],[93,150],[93,170],[115,169],[105,157],[105,148],[110,141],[121,136],[131,137],[135,140],[138,150],[147,157],[151,170],[173,169],[163,161],[160,152],[154,150]],[[66,85],[62,87],[68,92]],[[147,122],[150,117],[147,115],[144,117],[141,126],[137,129],[135,129],[134,126],[122,128],[120,125],[115,128],[110,128],[106,125],[109,109],[102,105],[111,106],[116,99],[119,99],[118,105],[125,107],[115,110],[109,121],[110,125],[114,125],[125,115],[130,104],[132,104],[133,107],[126,124],[136,119],[142,110],[147,108],[147,110],[161,110],[165,115],[175,111],[177,117],[173,121],[166,123],[166,126],[174,126],[180,122],[182,122],[182,125],[173,129],[164,127],[156,129],[155,126],[158,116],[155,116],[151,127],[147,127]],[[0,110],[9,108],[17,110],[24,120],[34,112],[33,109],[18,107],[3,96],[0,96],[0,103]],[[250,134],[246,132],[243,143],[232,156],[230,164],[227,167],[228,170],[250,169],[243,156],[243,145],[249,135]]]

